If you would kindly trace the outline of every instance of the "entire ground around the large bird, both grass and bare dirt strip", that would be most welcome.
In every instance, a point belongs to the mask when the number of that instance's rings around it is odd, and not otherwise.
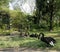
[[[54,47],[47,47],[38,38],[20,37],[20,36],[0,36],[0,51],[6,52],[57,52],[60,51],[60,30],[54,31],[34,31],[35,33],[43,32],[45,36],[53,37],[56,40]],[[32,32],[31,32],[32,33]]]

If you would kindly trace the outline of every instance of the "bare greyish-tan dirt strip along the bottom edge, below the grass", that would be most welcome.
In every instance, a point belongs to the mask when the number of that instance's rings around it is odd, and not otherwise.
[[[41,50],[41,49],[32,49],[32,48],[0,48],[0,52],[60,52],[57,50]]]

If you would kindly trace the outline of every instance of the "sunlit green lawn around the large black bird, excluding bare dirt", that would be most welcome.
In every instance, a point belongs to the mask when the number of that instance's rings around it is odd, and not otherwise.
[[[60,32],[45,32],[45,36],[51,36],[56,39],[56,44],[54,47],[48,47],[49,49],[60,50]],[[0,36],[0,48],[7,47],[28,47],[28,48],[40,48],[46,49],[46,44],[37,38],[30,37],[10,37],[10,36]]]

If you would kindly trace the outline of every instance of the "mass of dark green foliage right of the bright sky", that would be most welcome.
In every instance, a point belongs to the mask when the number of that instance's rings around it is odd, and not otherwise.
[[[57,12],[60,10],[59,3],[59,0],[36,0],[36,12],[34,15],[36,17],[36,24],[38,24],[39,27],[46,26],[49,30],[53,29],[55,24],[53,21],[55,16],[57,16]],[[56,19],[58,20],[57,17]],[[46,23],[43,25],[43,22]]]

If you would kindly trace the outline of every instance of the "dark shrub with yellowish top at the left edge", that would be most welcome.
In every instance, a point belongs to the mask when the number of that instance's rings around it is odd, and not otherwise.
[[[10,24],[10,15],[8,8],[0,10],[0,28],[1,29],[9,29]]]

